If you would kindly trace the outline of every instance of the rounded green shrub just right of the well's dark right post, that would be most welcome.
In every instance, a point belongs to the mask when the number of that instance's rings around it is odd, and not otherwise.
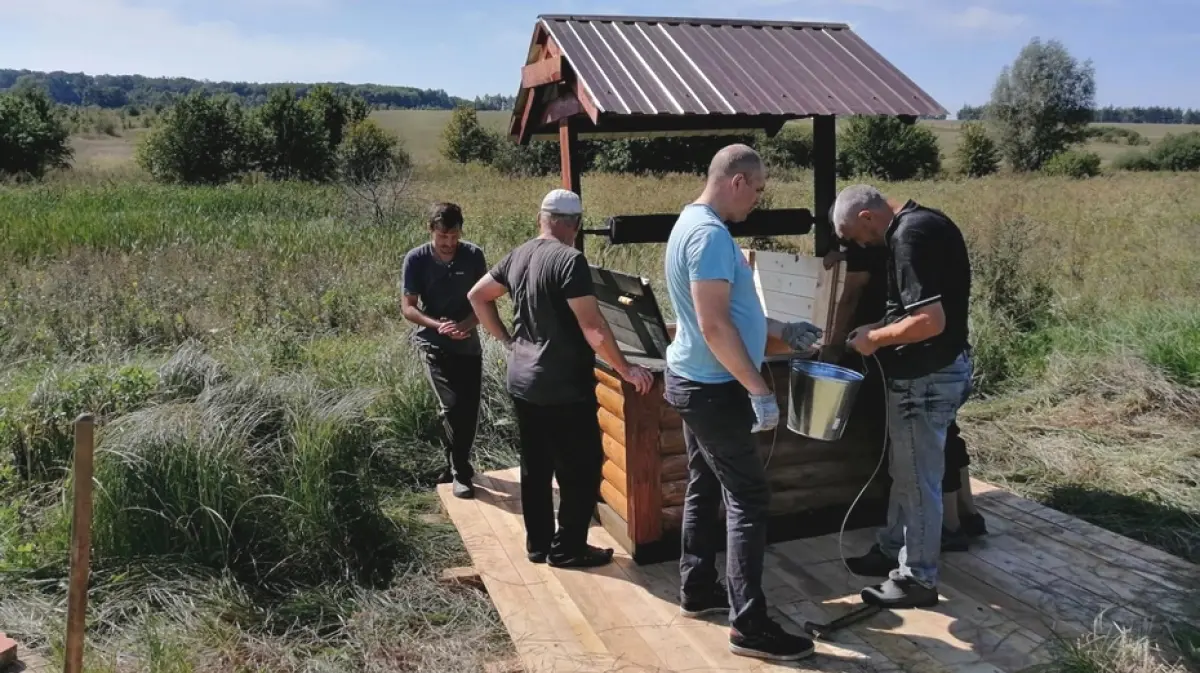
[[[853,116],[838,139],[846,168],[880,180],[932,178],[942,169],[937,137],[895,116]]]

